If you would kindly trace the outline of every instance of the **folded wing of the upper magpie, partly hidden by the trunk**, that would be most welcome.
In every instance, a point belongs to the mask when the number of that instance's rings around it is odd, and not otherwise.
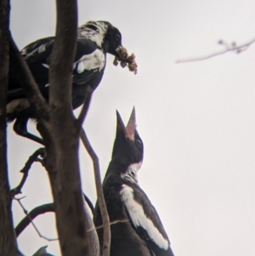
[[[33,77],[35,78],[42,95],[48,98],[48,68],[50,54],[54,44],[54,37],[47,37],[30,43],[20,51],[26,60]],[[96,43],[85,39],[77,38],[77,52],[73,63],[73,83],[86,84],[97,77],[105,68],[105,54],[98,48]],[[19,89],[17,91],[17,89]],[[24,94],[23,88],[15,78],[14,71],[10,66],[8,93],[19,97]],[[10,96],[10,99],[13,98]]]

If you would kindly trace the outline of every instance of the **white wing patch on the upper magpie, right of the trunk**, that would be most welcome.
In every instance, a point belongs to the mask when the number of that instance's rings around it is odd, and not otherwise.
[[[78,73],[97,68],[101,71],[105,66],[105,54],[101,50],[96,49],[92,54],[83,55],[73,66],[77,68]]]

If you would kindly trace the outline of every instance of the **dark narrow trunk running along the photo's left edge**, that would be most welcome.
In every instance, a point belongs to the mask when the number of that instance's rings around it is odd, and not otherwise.
[[[17,256],[17,243],[11,212],[6,142],[6,96],[8,88],[9,2],[0,1],[0,255]]]

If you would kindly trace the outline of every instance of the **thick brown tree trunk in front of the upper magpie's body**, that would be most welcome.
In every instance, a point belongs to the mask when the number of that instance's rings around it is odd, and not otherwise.
[[[61,253],[63,256],[84,256],[91,253],[78,159],[80,128],[73,117],[71,105],[72,64],[77,44],[77,1],[57,0],[56,3],[56,38],[49,68],[50,131],[44,133],[43,127],[40,130],[46,145],[46,168],[54,196]]]

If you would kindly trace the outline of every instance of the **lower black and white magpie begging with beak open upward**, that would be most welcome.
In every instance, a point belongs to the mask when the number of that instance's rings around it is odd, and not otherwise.
[[[126,128],[118,112],[116,115],[116,139],[103,182],[111,221],[111,256],[173,256],[161,219],[138,184],[144,145],[136,130],[135,111],[133,109]],[[98,206],[94,224],[102,247],[102,219]]]

